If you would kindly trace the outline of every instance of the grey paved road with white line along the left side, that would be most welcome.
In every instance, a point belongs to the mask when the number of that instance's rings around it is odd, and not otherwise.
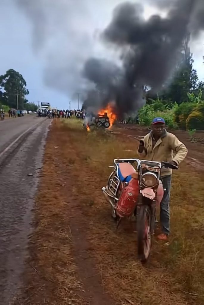
[[[27,241],[32,231],[31,210],[49,124],[50,120],[30,116],[0,122],[0,154],[28,131],[0,158],[1,305],[10,304],[21,285]]]

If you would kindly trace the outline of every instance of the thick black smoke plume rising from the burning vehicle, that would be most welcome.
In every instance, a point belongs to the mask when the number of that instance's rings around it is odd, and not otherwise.
[[[91,58],[83,75],[95,83],[102,105],[114,100],[120,113],[141,107],[143,85],[160,90],[174,72],[185,37],[204,29],[203,0],[151,0],[168,10],[148,20],[140,4],[124,2],[113,11],[113,19],[102,33],[107,47],[121,49],[122,66]]]

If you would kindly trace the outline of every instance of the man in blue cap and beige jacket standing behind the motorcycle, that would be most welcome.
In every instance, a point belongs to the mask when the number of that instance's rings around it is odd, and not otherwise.
[[[174,152],[174,156],[173,156]],[[188,154],[188,149],[181,143],[177,137],[165,129],[165,120],[156,117],[152,121],[152,131],[140,141],[138,155],[141,159],[149,161],[167,161],[175,165],[179,165]],[[164,196],[160,204],[160,222],[162,226],[162,234],[158,235],[158,239],[167,240],[170,234],[170,189],[171,189],[172,170],[162,168],[161,180]]]

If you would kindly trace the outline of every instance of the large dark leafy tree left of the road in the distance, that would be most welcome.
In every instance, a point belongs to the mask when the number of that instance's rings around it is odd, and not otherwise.
[[[18,97],[18,108],[23,109],[25,96],[29,94],[26,86],[26,81],[19,72],[13,69],[6,71],[5,75],[0,76],[0,101],[2,104],[16,108]]]

